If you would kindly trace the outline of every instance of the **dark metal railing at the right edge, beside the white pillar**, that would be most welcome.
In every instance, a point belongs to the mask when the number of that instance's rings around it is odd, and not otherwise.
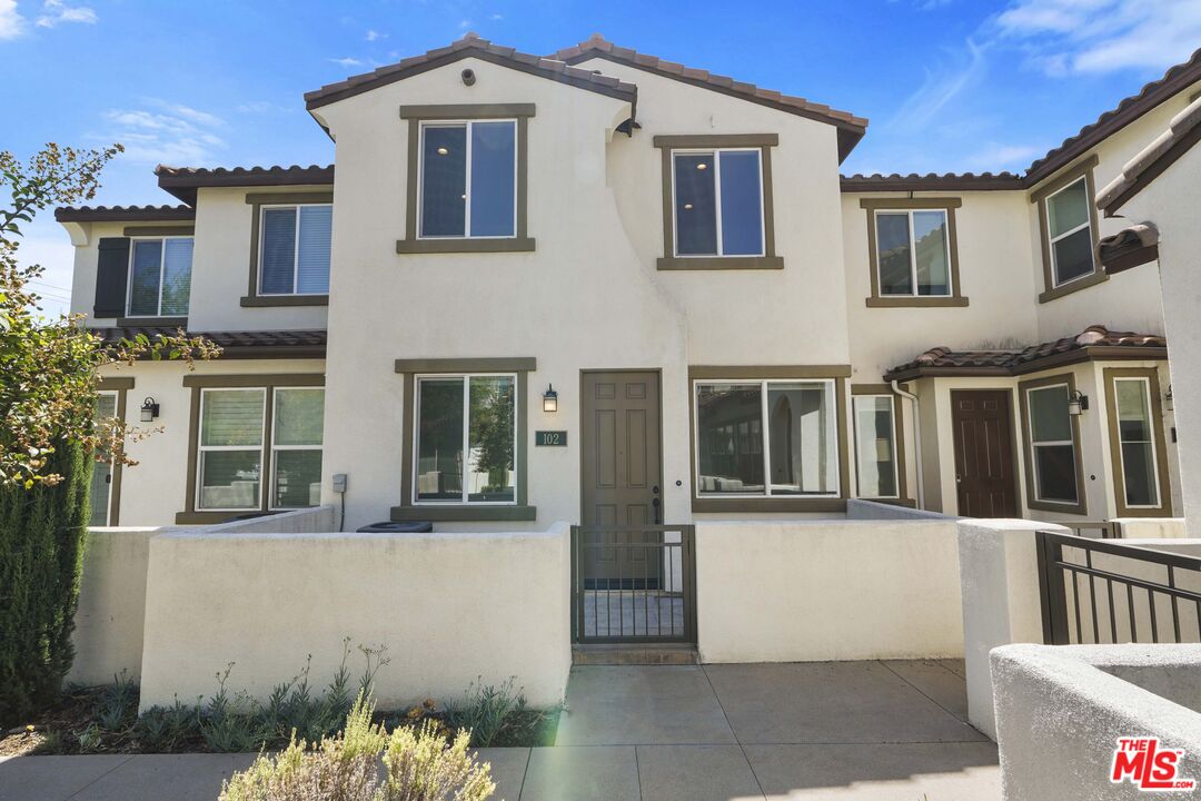
[[[1047,645],[1201,642],[1201,558],[1038,532]]]

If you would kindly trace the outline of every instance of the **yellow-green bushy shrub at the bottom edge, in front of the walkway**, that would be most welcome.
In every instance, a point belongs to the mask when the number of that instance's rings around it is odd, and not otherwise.
[[[234,773],[220,801],[484,801],[496,790],[491,767],[467,753],[466,733],[447,743],[435,722],[425,721],[389,735],[371,722],[372,712],[360,694],[341,734],[313,746],[293,737],[280,754],[261,755]]]

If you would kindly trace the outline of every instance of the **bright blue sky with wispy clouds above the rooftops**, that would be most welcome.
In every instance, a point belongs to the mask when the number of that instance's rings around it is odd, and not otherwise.
[[[867,116],[844,173],[1020,171],[1201,47],[1201,0],[0,0],[0,148],[124,143],[107,204],[172,202],[160,162],[329,163],[306,90],[467,30],[527,53],[599,31]],[[58,311],[66,234],[43,219],[23,250]]]

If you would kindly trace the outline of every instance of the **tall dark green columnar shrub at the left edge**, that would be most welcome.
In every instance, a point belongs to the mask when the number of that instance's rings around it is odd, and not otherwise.
[[[58,484],[0,485],[0,730],[53,700],[74,657],[94,461],[79,446],[49,460]]]

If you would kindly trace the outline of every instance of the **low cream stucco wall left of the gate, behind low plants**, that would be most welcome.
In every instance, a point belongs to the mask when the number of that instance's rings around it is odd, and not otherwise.
[[[263,699],[312,656],[329,681],[342,642],[387,648],[376,701],[458,698],[510,676],[533,705],[570,669],[569,528],[456,534],[201,530],[150,540],[142,709],[231,692]],[[362,674],[357,651],[348,666]]]

